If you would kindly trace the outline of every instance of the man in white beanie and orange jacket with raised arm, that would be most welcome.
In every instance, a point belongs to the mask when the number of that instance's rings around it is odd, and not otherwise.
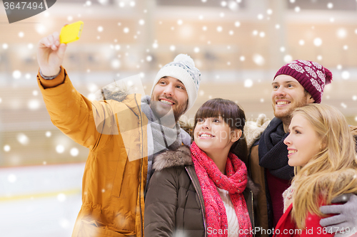
[[[37,80],[54,125],[89,148],[72,236],[144,236],[152,162],[158,152],[190,144],[178,119],[195,102],[201,74],[180,54],[159,70],[151,96],[116,92],[91,101],[61,66],[65,51],[59,33],[39,41]]]

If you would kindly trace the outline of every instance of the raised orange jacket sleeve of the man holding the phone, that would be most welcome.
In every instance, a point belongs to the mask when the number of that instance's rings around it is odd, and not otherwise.
[[[64,68],[53,80],[45,80],[41,75],[37,75],[37,79],[51,121],[75,142],[94,149],[101,131],[106,130],[106,127],[115,127],[111,126],[115,120],[106,119],[114,117],[109,106],[104,102],[91,102],[81,95],[72,85]]]

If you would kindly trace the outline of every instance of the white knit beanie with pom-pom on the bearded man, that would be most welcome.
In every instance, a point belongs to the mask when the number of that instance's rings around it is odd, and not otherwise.
[[[151,89],[151,95],[154,91],[155,85],[165,76],[181,80],[181,83],[185,86],[188,95],[188,105],[186,111],[189,110],[197,99],[198,88],[201,81],[201,73],[195,67],[193,59],[187,54],[181,53],[176,56],[174,62],[164,65],[164,67],[162,67],[156,75],[153,88]]]

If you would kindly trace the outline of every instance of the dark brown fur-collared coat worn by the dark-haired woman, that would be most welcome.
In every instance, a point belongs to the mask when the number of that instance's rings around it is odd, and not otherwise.
[[[146,193],[145,236],[207,236],[203,194],[190,149],[183,146],[159,154],[154,169]],[[258,188],[251,179],[243,194],[254,228],[253,196]]]

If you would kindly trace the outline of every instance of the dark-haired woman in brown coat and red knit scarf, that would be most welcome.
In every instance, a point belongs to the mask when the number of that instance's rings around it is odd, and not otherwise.
[[[208,100],[196,113],[191,147],[156,157],[146,193],[146,237],[252,236],[257,188],[242,161],[245,120],[231,100]]]

